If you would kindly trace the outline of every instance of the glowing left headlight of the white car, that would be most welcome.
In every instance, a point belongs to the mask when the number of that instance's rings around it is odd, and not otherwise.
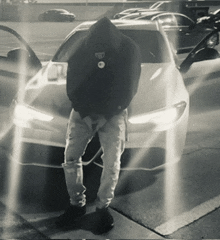
[[[53,116],[39,112],[29,106],[17,104],[14,109],[14,123],[20,127],[29,127],[30,121],[39,120],[50,122]]]

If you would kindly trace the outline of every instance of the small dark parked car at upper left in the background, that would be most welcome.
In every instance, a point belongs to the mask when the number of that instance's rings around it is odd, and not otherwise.
[[[74,13],[65,9],[51,9],[38,16],[39,21],[72,22],[76,18]]]

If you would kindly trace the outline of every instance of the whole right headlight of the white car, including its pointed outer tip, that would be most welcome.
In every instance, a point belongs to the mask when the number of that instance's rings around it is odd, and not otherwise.
[[[177,121],[182,116],[185,108],[186,102],[182,101],[170,108],[163,108],[147,114],[132,116],[128,121],[131,124],[149,123],[156,127],[168,125]]]

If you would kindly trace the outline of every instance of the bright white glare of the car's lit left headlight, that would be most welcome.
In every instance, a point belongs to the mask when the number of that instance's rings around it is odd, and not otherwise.
[[[53,117],[50,115],[38,112],[24,105],[16,105],[14,118],[23,121],[31,121],[36,119],[44,122],[50,122],[53,119]]]

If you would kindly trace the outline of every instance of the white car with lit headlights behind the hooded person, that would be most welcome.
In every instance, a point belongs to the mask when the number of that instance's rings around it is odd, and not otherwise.
[[[139,89],[128,108],[126,148],[156,152],[164,149],[166,159],[161,164],[176,162],[185,144],[189,94],[170,44],[155,22],[112,22],[131,37],[142,52]],[[94,22],[85,22],[77,26],[53,59],[29,81],[24,95],[18,96],[13,106],[13,122],[20,130],[22,142],[65,147],[71,111],[66,94],[67,61],[77,40],[87,34],[92,24]]]

